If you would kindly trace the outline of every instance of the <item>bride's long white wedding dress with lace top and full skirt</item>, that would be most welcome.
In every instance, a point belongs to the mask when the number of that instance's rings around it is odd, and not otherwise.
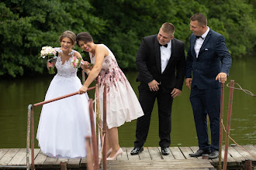
[[[61,53],[60,48],[57,51]],[[71,56],[74,56],[74,50]],[[78,69],[71,66],[71,59],[62,64],[61,56],[58,56],[55,66],[57,74],[50,83],[45,100],[74,93],[82,87]],[[85,157],[85,136],[91,136],[87,93],[43,105],[36,138],[45,155]]]

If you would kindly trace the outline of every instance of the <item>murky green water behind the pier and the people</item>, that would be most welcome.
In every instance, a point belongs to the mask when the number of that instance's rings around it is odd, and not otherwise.
[[[255,66],[256,58],[247,61],[234,61],[231,66],[230,80],[235,80],[241,87],[256,93]],[[126,73],[133,90],[138,94],[137,73]],[[81,75],[79,75],[81,77]],[[0,82],[0,148],[26,148],[26,121],[29,104],[44,100],[44,95],[53,75],[26,77],[22,80],[1,80]],[[94,92],[88,93],[94,97]],[[224,124],[227,122],[227,104],[229,88],[225,87]],[[256,97],[251,97],[241,90],[234,90],[230,136],[240,145],[256,144]],[[35,135],[41,107],[35,111]],[[189,102],[189,90],[183,87],[182,95],[175,98],[172,110],[171,146],[196,146],[197,138]],[[119,128],[119,143],[131,147],[135,140],[136,121],[128,122]],[[68,138],[68,137],[67,137]],[[37,146],[37,140],[36,146]],[[158,117],[155,105],[145,146],[158,146]],[[232,143],[232,141],[230,141]]]

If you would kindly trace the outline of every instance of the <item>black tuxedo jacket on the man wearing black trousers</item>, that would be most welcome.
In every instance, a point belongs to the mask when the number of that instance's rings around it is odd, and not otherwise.
[[[137,81],[149,89],[147,83],[156,80],[164,91],[173,88],[182,90],[185,77],[185,44],[178,39],[171,39],[171,57],[163,73],[161,73],[161,53],[157,35],[146,36],[140,43],[137,53]]]

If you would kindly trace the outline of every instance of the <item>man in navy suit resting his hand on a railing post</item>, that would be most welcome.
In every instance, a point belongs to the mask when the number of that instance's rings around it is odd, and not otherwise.
[[[232,60],[224,37],[209,29],[204,15],[196,13],[190,20],[190,29],[193,33],[190,36],[186,58],[185,85],[191,88],[190,102],[199,150],[189,155],[199,157],[202,154],[209,154],[209,158],[213,159],[219,156],[220,86],[227,80]],[[210,145],[207,114],[211,130]]]

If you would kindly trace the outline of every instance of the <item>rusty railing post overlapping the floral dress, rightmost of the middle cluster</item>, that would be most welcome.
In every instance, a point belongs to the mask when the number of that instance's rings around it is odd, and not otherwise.
[[[103,92],[103,134],[104,135],[104,144],[103,144],[103,170],[106,170],[106,84],[104,84],[104,92]]]

